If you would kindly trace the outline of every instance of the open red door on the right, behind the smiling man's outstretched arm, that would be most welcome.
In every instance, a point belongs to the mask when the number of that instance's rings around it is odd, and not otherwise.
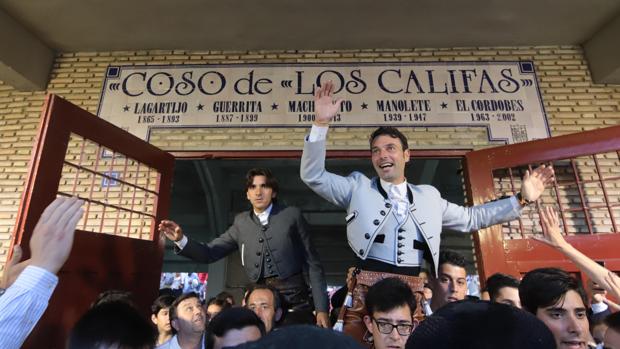
[[[614,126],[466,154],[468,198],[474,204],[516,193],[527,168],[552,164],[556,173],[552,188],[526,207],[520,220],[474,234],[481,280],[496,272],[521,276],[546,266],[578,273],[560,253],[532,239],[542,234],[538,214],[543,205],[560,212],[568,242],[619,271],[619,150],[620,126]]]

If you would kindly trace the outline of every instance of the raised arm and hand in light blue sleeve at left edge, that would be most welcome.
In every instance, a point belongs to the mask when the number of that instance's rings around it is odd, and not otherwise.
[[[18,263],[21,249],[14,249],[0,285],[6,287],[0,296],[0,348],[21,347],[45,312],[58,284],[56,273],[71,252],[75,227],[83,214],[82,204],[76,198],[57,198],[34,228],[30,259]]]

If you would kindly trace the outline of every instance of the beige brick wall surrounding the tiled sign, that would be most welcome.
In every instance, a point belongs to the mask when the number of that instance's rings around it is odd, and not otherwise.
[[[580,47],[502,47],[347,51],[92,52],[59,55],[47,91],[22,93],[0,82],[0,265],[6,260],[15,216],[27,174],[45,93],[58,94],[95,113],[106,67],[114,65],[421,62],[454,60],[533,60],[553,136],[617,125],[620,87],[594,85]],[[158,131],[153,144],[167,150],[294,149],[304,129],[195,129]],[[366,149],[367,129],[336,129],[332,149]],[[490,144],[486,131],[432,128],[408,131],[418,149],[477,149]],[[2,269],[0,269],[2,273]]]

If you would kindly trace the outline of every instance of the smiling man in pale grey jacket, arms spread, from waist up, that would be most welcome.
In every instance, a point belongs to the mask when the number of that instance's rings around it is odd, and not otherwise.
[[[473,207],[444,200],[430,185],[413,185],[405,178],[409,162],[406,137],[393,127],[380,127],[370,139],[377,177],[359,172],[342,177],[325,170],[325,138],[329,122],[342,100],[332,97],[331,81],[315,93],[316,119],[306,138],[301,179],[317,194],[347,210],[349,246],[362,269],[417,275],[423,259],[437,275],[442,227],[471,232],[516,219],[521,208],[538,199],[553,181],[553,168],[529,171],[516,196]]]

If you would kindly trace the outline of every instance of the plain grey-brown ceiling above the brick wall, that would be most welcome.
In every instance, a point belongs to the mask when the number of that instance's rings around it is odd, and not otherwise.
[[[0,11],[51,53],[449,48],[586,44],[620,0],[0,0]]]

